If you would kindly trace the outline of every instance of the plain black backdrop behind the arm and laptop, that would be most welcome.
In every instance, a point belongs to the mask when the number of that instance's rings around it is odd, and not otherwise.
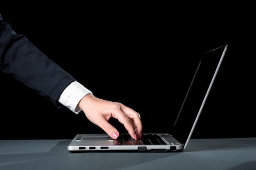
[[[138,111],[144,133],[171,129],[200,55],[228,44],[193,137],[256,137],[250,10],[115,5],[53,7],[38,2],[2,5],[0,13],[16,33],[24,34],[95,96]],[[58,109],[11,76],[0,76],[1,139],[63,139],[103,132],[83,112]],[[119,122],[110,122],[125,132]]]

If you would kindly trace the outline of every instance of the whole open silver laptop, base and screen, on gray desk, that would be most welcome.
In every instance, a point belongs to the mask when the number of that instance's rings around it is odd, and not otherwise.
[[[77,134],[67,146],[70,152],[181,152],[189,143],[216,78],[228,45],[202,54],[180,111],[169,133],[145,133],[133,140],[128,133],[112,139],[108,134]]]

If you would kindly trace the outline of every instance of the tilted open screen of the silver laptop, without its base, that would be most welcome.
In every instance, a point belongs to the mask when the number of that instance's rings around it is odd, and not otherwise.
[[[202,54],[198,67],[195,68],[195,74],[171,130],[171,135],[182,144],[191,137],[226,50],[227,45],[224,45]]]

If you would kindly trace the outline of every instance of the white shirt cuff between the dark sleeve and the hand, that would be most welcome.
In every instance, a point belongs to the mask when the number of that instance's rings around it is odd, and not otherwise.
[[[74,113],[78,114],[81,109],[79,111],[75,111],[76,106],[78,105],[79,101],[89,93],[92,92],[81,85],[79,82],[74,81],[63,91],[60,98],[58,99],[58,102],[60,102]]]

